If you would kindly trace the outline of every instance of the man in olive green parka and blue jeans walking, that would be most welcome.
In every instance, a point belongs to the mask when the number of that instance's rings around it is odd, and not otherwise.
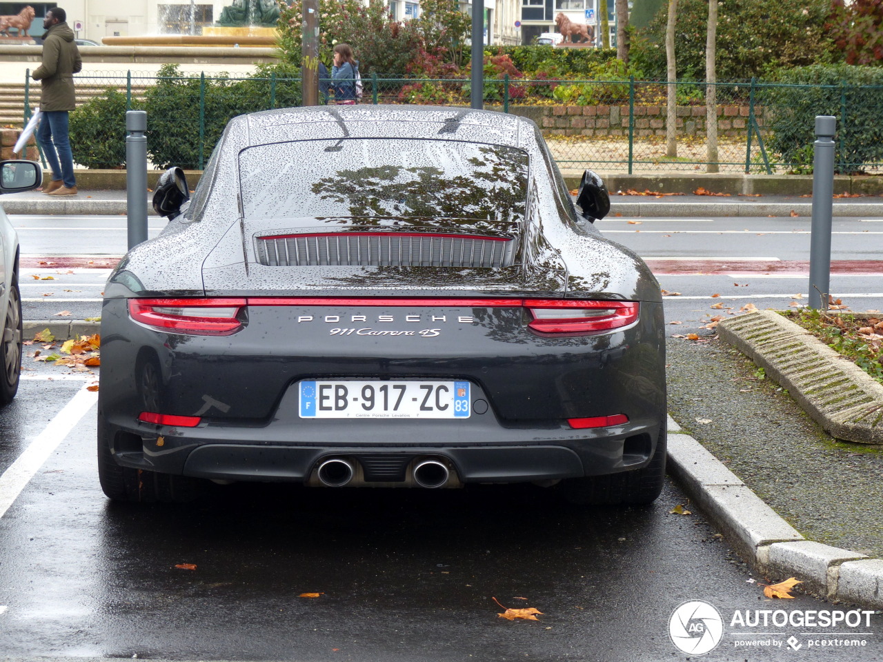
[[[76,195],[77,180],[73,177],[73,155],[68,133],[68,112],[76,108],[73,74],[83,68],[73,30],[65,23],[67,13],[61,7],[46,12],[43,20],[42,64],[31,76],[41,81],[39,143],[52,181],[43,187],[47,195]],[[60,162],[60,163],[59,163]]]

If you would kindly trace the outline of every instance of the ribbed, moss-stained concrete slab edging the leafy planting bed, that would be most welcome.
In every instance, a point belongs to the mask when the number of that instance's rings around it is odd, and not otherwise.
[[[718,326],[736,347],[837,439],[883,443],[883,386],[824,342],[774,311],[750,312]]]

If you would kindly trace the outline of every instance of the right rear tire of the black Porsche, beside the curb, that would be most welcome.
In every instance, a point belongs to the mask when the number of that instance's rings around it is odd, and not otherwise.
[[[656,450],[643,469],[607,476],[568,478],[558,485],[564,499],[580,506],[638,506],[653,503],[665,483],[666,425],[660,429]]]

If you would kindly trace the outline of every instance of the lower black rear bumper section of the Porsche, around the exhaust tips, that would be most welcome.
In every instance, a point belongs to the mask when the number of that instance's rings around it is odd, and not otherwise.
[[[190,432],[187,437],[162,434],[175,431],[161,428],[145,435],[144,430],[124,429],[103,420],[99,429],[101,442],[109,444],[117,463],[135,469],[215,480],[314,484],[315,470],[322,461],[343,457],[354,463],[360,482],[366,485],[404,485],[416,463],[427,458],[446,463],[462,483],[529,482],[640,469],[653,456],[662,423],[578,431],[590,433],[583,438],[573,434],[577,431],[567,431],[557,440],[530,440],[530,431],[522,430],[521,440],[505,444],[282,444],[217,436],[198,439],[193,432],[204,434],[208,429]],[[532,432],[548,437],[550,431]]]

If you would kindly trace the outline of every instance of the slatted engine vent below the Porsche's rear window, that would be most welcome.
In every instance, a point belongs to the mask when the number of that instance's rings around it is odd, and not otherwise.
[[[509,267],[515,242],[472,235],[336,232],[257,237],[267,267]]]

